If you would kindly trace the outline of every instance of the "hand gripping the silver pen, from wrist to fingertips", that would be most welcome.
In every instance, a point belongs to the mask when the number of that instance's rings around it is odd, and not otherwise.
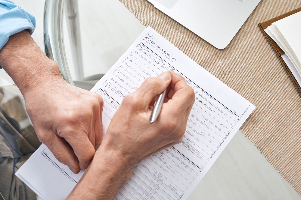
[[[169,85],[161,113],[150,124],[152,108],[149,105]],[[193,103],[194,90],[182,76],[169,71],[148,78],[123,99],[108,127],[105,145],[121,151],[134,165],[182,141]]]

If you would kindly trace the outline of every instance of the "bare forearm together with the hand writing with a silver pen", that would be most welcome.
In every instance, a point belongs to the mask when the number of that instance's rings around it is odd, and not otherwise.
[[[161,113],[150,124],[150,104],[167,87]],[[113,199],[136,163],[182,141],[193,104],[194,90],[182,76],[169,71],[146,79],[123,99],[91,165],[69,198]]]

